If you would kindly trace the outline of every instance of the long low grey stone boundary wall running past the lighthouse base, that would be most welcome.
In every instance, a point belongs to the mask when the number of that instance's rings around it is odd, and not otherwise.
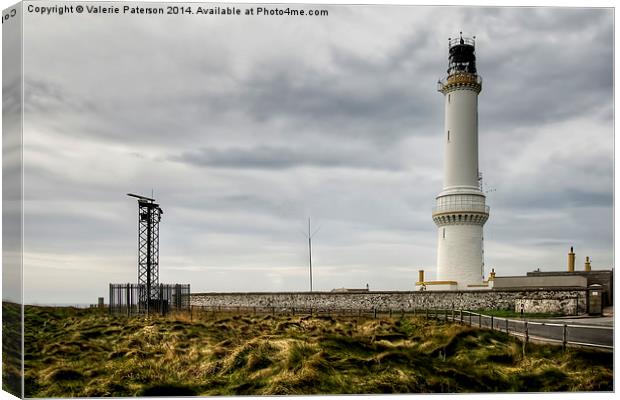
[[[517,302],[538,300],[557,312],[574,315],[587,312],[587,289],[504,289],[489,291],[418,291],[418,292],[254,292],[192,293],[192,306],[280,307],[317,309],[463,309],[514,310]],[[544,309],[544,307],[542,307]],[[543,310],[544,311],[544,310]],[[543,312],[541,311],[541,312]]]

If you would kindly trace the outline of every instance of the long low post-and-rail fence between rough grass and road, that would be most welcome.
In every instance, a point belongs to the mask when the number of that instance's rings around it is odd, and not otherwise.
[[[243,306],[191,306],[193,316],[217,313],[243,313],[255,315],[314,315],[328,317],[394,318],[421,316],[448,323],[459,323],[482,329],[491,329],[517,336],[525,342],[537,341],[562,346],[594,347],[613,350],[613,327],[586,324],[542,322],[532,319],[494,317],[467,310],[446,309],[355,309],[312,307],[243,307]]]

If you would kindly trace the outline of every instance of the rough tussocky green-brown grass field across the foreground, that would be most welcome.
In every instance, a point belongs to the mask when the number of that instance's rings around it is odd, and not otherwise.
[[[26,308],[26,396],[613,390],[613,356],[423,318]]]

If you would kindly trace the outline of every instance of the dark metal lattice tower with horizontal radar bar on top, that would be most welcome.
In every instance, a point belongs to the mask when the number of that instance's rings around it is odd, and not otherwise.
[[[164,213],[155,199],[132,193],[138,199],[138,301],[149,311],[158,299],[159,285],[159,222]]]

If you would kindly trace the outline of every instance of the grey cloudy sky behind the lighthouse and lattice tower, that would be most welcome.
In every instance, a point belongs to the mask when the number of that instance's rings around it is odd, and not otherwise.
[[[195,6],[195,5],[194,5]],[[296,8],[304,7],[297,5]],[[433,278],[447,39],[477,37],[486,273],[613,262],[610,9],[320,6],[327,17],[27,14],[27,302],[136,280],[193,292]]]

